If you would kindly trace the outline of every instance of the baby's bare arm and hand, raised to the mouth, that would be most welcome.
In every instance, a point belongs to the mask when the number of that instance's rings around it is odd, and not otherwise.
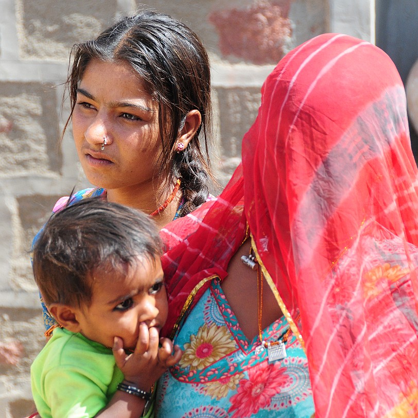
[[[159,342],[161,341],[161,347]],[[158,329],[143,323],[140,325],[140,333],[135,351],[127,355],[123,348],[123,341],[115,337],[113,355],[117,367],[124,374],[123,387],[134,386],[140,391],[149,393],[152,385],[171,365],[176,364],[182,355],[178,346],[174,347],[167,338],[159,337]],[[134,418],[140,417],[144,411],[146,399],[134,394],[118,390],[113,395],[109,404],[102,409],[96,417]]]

